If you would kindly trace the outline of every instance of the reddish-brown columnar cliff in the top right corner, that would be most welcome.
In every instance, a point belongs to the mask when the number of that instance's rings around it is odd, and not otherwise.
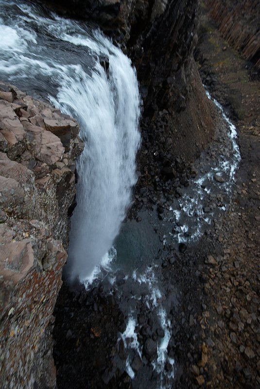
[[[260,2],[205,0],[221,35],[260,69]]]

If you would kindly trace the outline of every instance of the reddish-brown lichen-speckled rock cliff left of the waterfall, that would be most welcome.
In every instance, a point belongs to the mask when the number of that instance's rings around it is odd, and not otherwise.
[[[69,116],[0,83],[0,386],[53,388],[52,312],[69,239],[74,160]]]

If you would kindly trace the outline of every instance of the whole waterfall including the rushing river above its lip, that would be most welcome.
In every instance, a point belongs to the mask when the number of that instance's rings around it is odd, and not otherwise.
[[[84,23],[43,16],[32,3],[0,5],[0,78],[47,97],[80,124],[85,148],[77,161],[66,273],[84,281],[111,248],[136,182],[136,71],[119,48]],[[101,66],[101,58],[109,66]]]

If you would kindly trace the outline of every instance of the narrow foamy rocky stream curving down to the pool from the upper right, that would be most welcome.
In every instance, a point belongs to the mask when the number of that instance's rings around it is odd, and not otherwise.
[[[224,121],[227,124],[227,143],[229,149],[226,155],[219,155],[218,158],[212,161],[212,166],[206,173],[200,173],[199,176],[191,182],[191,186],[187,189],[187,193],[183,194],[178,200],[178,209],[172,206],[170,211],[173,212],[173,220],[177,222],[177,228],[174,233],[169,235],[175,239],[178,237],[179,243],[197,241],[204,233],[204,226],[211,224],[214,217],[214,209],[209,209],[204,212],[205,204],[210,201],[210,193],[214,189],[215,193],[225,194],[230,196],[232,187],[235,181],[235,173],[241,161],[239,145],[237,143],[237,129],[230,119],[226,116],[223,107],[212,98],[206,89],[208,99],[211,99],[217,108],[221,111]],[[217,176],[225,177],[225,182],[218,183],[215,178]],[[219,208],[222,211],[226,210],[226,205]],[[188,225],[189,224],[189,227]],[[167,241],[164,241],[167,243]]]

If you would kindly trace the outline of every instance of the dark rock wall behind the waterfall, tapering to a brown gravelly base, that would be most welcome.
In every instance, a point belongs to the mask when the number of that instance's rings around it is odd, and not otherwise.
[[[214,107],[193,60],[198,1],[55,0],[51,6],[96,21],[132,59],[143,101],[142,135],[151,147],[163,140],[161,158],[197,158],[214,127]]]

